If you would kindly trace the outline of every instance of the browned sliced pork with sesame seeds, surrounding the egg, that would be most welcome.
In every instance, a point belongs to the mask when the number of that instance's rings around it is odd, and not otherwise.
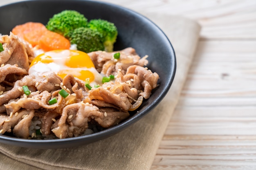
[[[95,68],[103,76],[115,79],[88,89],[85,81],[68,74],[28,75],[34,58],[31,45],[16,35],[0,36],[0,133],[16,137],[76,137],[89,126],[110,128],[126,120],[143,98],[149,98],[159,78],[144,66],[148,56],[139,57],[134,48],[115,52],[90,52]],[[120,58],[114,59],[119,52]],[[26,85],[30,94],[24,94]],[[64,89],[68,95],[61,96]],[[55,103],[49,100],[55,99]],[[88,122],[90,122],[88,124]],[[33,129],[34,127],[39,132]]]

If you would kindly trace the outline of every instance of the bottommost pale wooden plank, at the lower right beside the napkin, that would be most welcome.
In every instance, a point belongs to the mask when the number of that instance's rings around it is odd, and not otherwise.
[[[255,168],[256,142],[252,136],[170,135],[162,141],[151,169]]]

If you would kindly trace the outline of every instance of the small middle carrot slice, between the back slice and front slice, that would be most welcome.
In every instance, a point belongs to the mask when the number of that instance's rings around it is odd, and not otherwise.
[[[33,47],[39,44],[39,40],[47,30],[33,30],[24,34],[24,39]]]

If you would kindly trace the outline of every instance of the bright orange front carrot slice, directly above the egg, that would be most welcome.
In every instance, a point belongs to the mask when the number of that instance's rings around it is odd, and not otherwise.
[[[58,33],[46,31],[39,40],[39,48],[44,51],[65,50],[70,48],[70,41]]]

